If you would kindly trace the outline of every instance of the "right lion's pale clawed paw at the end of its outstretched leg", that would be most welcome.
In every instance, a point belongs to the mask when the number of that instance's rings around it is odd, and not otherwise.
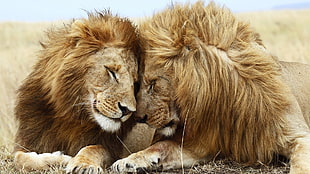
[[[145,173],[151,170],[162,170],[160,157],[154,155],[132,154],[127,158],[117,160],[111,169],[115,172]]]

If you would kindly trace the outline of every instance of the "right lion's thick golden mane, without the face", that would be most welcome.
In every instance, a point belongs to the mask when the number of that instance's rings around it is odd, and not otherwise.
[[[279,63],[248,24],[201,3],[175,5],[141,24],[148,62],[174,72],[184,147],[197,157],[268,163],[289,142],[280,139],[289,101]],[[182,131],[175,137],[181,141]]]

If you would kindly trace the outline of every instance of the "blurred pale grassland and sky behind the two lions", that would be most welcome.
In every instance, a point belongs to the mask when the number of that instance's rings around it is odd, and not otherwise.
[[[0,5],[0,166],[12,159],[16,122],[16,89],[31,71],[44,31],[85,11],[110,9],[134,21],[174,3],[195,0],[1,0]],[[209,1],[205,1],[207,4]],[[310,63],[309,0],[215,0],[260,33],[267,49],[280,60]],[[10,168],[10,167],[7,167]],[[1,170],[7,170],[0,167]],[[1,173],[1,172],[0,172]]]

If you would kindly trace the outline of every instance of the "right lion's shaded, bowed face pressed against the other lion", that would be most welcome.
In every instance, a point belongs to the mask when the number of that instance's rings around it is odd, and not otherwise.
[[[138,121],[156,128],[157,132],[171,136],[179,122],[179,113],[174,100],[173,72],[163,66],[145,62],[145,72],[137,95]]]

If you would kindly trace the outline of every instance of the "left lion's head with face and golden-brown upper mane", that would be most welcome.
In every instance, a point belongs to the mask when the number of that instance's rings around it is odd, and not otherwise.
[[[42,45],[45,60],[37,69],[56,115],[91,115],[103,130],[119,130],[136,110],[138,38],[131,22],[109,12],[90,13],[49,32]]]

